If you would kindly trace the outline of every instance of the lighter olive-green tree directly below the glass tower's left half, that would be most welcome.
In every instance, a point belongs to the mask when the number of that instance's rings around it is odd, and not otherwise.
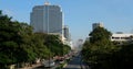
[[[38,58],[49,58],[50,49],[44,45],[47,34],[34,33],[32,38],[32,45],[34,45],[34,51],[37,53]]]

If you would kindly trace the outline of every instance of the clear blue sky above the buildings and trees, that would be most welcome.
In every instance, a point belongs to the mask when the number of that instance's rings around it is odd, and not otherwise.
[[[115,32],[131,33],[133,30],[133,0],[49,0],[62,8],[64,23],[69,25],[72,39],[85,38],[92,31],[92,23],[102,22],[104,27]],[[44,0],[0,0],[0,10],[19,22],[30,23],[34,5]]]

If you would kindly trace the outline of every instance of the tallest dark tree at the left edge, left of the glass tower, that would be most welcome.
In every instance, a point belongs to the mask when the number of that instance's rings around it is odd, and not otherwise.
[[[0,13],[0,65],[28,61],[32,55],[31,26]],[[31,47],[30,47],[31,46]]]

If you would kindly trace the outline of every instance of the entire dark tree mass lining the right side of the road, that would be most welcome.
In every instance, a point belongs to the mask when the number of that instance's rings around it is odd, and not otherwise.
[[[114,45],[110,36],[111,33],[103,27],[90,33],[82,56],[91,69],[126,69],[133,66],[133,44]]]

